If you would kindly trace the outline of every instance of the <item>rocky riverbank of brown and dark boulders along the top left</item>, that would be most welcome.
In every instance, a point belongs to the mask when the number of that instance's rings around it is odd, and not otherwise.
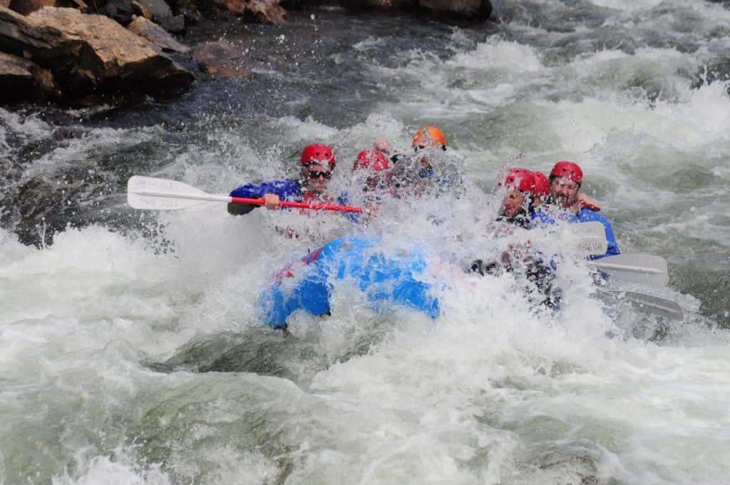
[[[321,1],[0,0],[0,104],[93,105],[180,93],[199,75],[247,77],[242,45],[192,48],[172,34],[201,21],[284,23],[286,8]],[[489,0],[340,0],[355,15],[485,20]]]

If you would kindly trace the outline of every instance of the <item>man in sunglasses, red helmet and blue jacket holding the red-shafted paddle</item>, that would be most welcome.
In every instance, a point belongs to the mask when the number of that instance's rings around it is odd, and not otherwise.
[[[264,207],[269,210],[278,209],[282,200],[328,204],[333,202],[333,199],[326,195],[326,190],[336,164],[334,152],[327,145],[319,143],[308,145],[301,152],[299,180],[247,183],[231,191],[231,196],[264,199]],[[247,214],[255,207],[258,205],[228,204],[228,213]]]

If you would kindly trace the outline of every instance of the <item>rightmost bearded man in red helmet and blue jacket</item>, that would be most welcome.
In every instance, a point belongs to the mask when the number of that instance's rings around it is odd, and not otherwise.
[[[607,256],[620,254],[618,243],[613,235],[611,224],[606,218],[599,215],[596,210],[591,210],[585,203],[581,203],[578,191],[583,183],[583,170],[572,161],[558,161],[550,170],[550,194],[532,215],[535,222],[539,224],[556,224],[560,219],[568,223],[599,221],[606,232],[608,249],[606,253],[598,256],[588,256],[588,259],[601,259]]]

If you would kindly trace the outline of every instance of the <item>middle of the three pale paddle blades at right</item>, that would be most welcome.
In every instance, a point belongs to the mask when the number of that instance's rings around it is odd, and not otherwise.
[[[631,283],[666,286],[669,282],[666,261],[661,256],[618,254],[592,261],[591,265],[609,276]]]

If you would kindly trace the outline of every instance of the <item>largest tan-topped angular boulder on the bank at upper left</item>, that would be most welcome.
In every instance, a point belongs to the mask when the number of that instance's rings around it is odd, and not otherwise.
[[[114,20],[77,9],[26,17],[0,7],[0,50],[49,70],[66,96],[178,91],[195,80]]]

